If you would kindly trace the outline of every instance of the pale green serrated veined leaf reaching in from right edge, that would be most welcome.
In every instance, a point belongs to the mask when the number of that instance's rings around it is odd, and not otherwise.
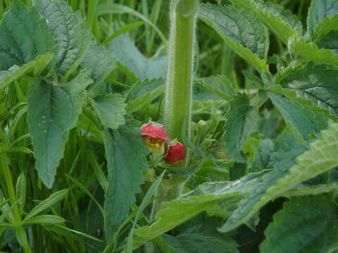
[[[321,134],[317,141],[311,143],[310,150],[297,157],[297,164],[289,170],[289,174],[267,190],[264,200],[273,199],[285,190],[338,166],[338,124],[330,124]]]

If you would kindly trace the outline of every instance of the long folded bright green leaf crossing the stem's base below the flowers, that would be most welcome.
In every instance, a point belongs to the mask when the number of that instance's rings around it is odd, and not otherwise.
[[[221,186],[219,183],[204,184],[178,200],[165,202],[164,208],[156,216],[155,223],[134,231],[133,247],[137,248],[144,242],[153,240],[197,214],[212,209],[219,202],[232,203],[234,198],[238,200],[239,195],[250,193],[256,187],[260,177],[261,174],[250,174],[240,180],[223,183]]]

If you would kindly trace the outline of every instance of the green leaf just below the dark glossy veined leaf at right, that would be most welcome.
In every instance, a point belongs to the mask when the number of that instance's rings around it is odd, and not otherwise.
[[[316,112],[307,105],[289,101],[278,95],[270,94],[270,100],[280,110],[290,130],[299,132],[304,140],[327,128],[327,118],[322,112]],[[298,136],[298,132],[294,132]]]

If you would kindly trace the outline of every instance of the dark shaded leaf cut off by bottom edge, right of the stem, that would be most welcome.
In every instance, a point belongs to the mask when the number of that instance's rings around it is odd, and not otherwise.
[[[177,236],[164,235],[163,238],[176,253],[238,253],[236,243],[230,238],[217,238],[211,235],[188,233]]]

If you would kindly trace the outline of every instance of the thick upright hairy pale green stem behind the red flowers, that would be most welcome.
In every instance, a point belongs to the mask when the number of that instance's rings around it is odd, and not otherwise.
[[[170,47],[167,83],[165,86],[164,126],[170,138],[184,142],[182,130],[190,131],[192,108],[192,80],[196,15],[199,0],[173,0],[170,6]],[[185,129],[184,129],[185,130]],[[175,200],[182,193],[187,176],[171,175],[158,188],[151,211],[151,221],[163,202]],[[154,252],[148,245],[146,252]]]

